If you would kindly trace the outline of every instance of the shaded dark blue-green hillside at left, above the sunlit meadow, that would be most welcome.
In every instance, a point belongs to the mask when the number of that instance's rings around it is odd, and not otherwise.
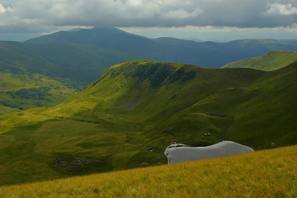
[[[91,83],[106,68],[132,58],[128,53],[74,43],[30,44],[1,41],[2,73],[39,73]]]

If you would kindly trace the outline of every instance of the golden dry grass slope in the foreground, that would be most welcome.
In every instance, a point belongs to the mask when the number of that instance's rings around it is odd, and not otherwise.
[[[297,197],[297,146],[1,186],[0,197]]]

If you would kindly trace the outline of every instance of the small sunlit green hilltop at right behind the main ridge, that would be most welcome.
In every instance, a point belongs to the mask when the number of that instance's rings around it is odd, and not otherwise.
[[[295,61],[297,61],[297,52],[275,50],[261,57],[244,58],[240,61],[229,63],[222,66],[222,68],[245,67],[272,71],[287,66]]]

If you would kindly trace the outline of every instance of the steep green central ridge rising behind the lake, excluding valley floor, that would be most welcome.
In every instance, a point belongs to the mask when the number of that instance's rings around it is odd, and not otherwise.
[[[136,64],[135,68],[146,68],[146,71],[137,77],[133,77],[137,70],[132,71],[130,76],[121,73],[128,71],[129,67],[133,68],[133,64]],[[168,74],[170,77],[154,88],[152,82],[157,83],[155,77],[158,70],[153,69],[158,64],[142,61],[113,66],[86,90],[44,113],[51,116],[63,114],[65,117],[94,123],[104,123],[103,120],[108,117],[106,115],[110,114],[110,121],[115,124],[123,121],[118,116],[128,116],[126,121],[133,120],[146,127],[143,128],[145,130],[156,134],[163,132],[180,142],[196,137],[199,140],[193,141],[193,145],[219,141],[214,138],[205,142],[200,135],[206,130],[218,137],[228,136],[233,141],[254,148],[265,148],[276,143],[272,141],[275,136],[283,140],[278,142],[279,146],[288,144],[291,140],[285,137],[286,130],[291,131],[290,136],[294,136],[296,125],[287,126],[285,122],[293,123],[295,115],[288,113],[287,116],[280,112],[287,112],[292,105],[295,106],[295,94],[292,93],[296,86],[293,83],[296,63],[275,72],[170,64],[168,67],[175,68],[175,72],[172,70]],[[152,74],[149,74],[150,69],[154,71]],[[178,71],[181,70],[184,73],[179,76]],[[186,74],[191,71],[195,71],[195,77],[187,81]],[[143,74],[147,76],[143,77]],[[174,79],[175,75],[177,77]],[[169,83],[171,77],[175,80],[173,83]],[[93,108],[81,110],[83,102],[80,101],[92,104]],[[224,116],[210,116],[212,114]],[[280,117],[280,114],[283,116]],[[275,129],[278,129],[277,133]],[[270,136],[274,137],[268,138]],[[271,142],[263,144],[256,141],[258,138]]]

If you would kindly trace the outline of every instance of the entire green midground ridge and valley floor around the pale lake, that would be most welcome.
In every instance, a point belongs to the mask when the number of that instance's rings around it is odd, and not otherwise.
[[[296,144],[296,76],[297,62],[268,72],[114,65],[62,104],[0,116],[0,183],[166,164],[170,140]]]

